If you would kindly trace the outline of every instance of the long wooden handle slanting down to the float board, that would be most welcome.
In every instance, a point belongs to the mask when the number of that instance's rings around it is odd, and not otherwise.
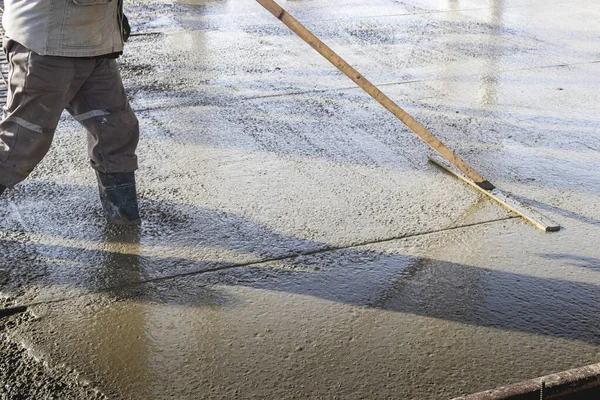
[[[431,146],[437,151],[442,157],[448,162],[458,168],[462,173],[468,176],[478,186],[486,190],[492,190],[494,185],[485,180],[473,167],[467,164],[462,158],[456,153],[450,150],[445,144],[439,141],[431,132],[427,130],[423,125],[417,122],[411,117],[406,111],[400,108],[396,103],[386,96],[381,90],[375,85],[369,82],[364,76],[358,73],[350,64],[344,61],[339,55],[331,50],[325,43],[319,38],[312,34],[306,29],[300,22],[292,17],[287,11],[281,6],[275,3],[273,0],[256,0],[260,5],[266,8],[271,14],[277,17],[283,22],[288,28],[290,28],[296,35],[300,36],[302,40],[308,43],[313,49],[319,52],[325,57],[330,63],[335,65],[340,71],[342,71],[348,78],[352,79],[354,83],[360,86],[365,92],[373,97],[379,104],[384,106],[389,112],[394,114],[396,118],[402,121],[410,130],[412,130],[417,136],[419,136],[425,143]]]

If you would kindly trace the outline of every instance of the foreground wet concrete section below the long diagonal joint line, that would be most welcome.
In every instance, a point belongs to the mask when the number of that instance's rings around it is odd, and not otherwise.
[[[11,335],[110,398],[450,398],[597,360],[599,234],[513,220],[125,280]]]

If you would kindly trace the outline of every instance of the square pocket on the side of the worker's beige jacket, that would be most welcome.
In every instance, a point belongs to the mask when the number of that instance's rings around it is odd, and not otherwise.
[[[111,0],[66,0],[61,44],[66,47],[96,47],[112,27],[107,24]]]

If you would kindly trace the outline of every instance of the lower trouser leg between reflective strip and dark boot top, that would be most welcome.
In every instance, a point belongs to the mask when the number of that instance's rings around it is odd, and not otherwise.
[[[79,119],[79,122],[88,131],[88,154],[95,170],[114,173],[137,169],[135,150],[140,128],[133,110],[105,111],[104,115]]]

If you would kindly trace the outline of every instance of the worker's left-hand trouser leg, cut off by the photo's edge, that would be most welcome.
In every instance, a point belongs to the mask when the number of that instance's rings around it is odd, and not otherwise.
[[[0,122],[0,185],[24,180],[44,158],[70,92],[75,68],[7,41],[9,88]]]

